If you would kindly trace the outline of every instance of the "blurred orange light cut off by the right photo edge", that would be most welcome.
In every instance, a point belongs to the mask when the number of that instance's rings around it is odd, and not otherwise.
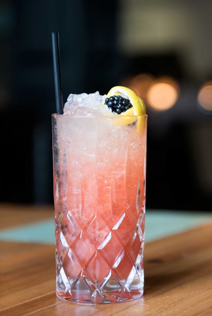
[[[199,90],[197,99],[204,110],[212,111],[212,80],[203,84]]]

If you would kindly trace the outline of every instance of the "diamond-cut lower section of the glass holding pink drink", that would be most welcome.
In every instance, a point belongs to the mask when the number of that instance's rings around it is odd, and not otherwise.
[[[128,298],[133,298],[134,292],[132,295],[130,293],[134,280],[137,282],[136,284],[143,286],[144,243],[143,240],[141,243],[139,238],[140,227],[143,224],[144,213],[142,212],[139,218],[137,217],[136,232],[128,214],[124,212],[112,230],[109,230],[102,217],[95,214],[85,225],[84,230],[80,230],[78,223],[68,211],[60,230],[56,229],[56,237],[59,237],[57,242],[60,245],[57,248],[62,250],[63,257],[61,258],[63,259],[61,260],[62,264],[58,262],[57,265],[57,287],[63,289],[67,295],[72,296],[75,295],[74,291],[77,291],[78,286],[81,289],[88,290],[89,288],[92,295],[88,295],[88,299],[93,303],[101,303],[106,301],[104,289],[108,286],[113,288],[113,284],[116,282],[116,290],[118,287],[117,293],[119,293],[117,297],[127,295]],[[73,238],[71,247],[68,245],[69,242],[67,243],[69,230],[66,225],[73,228],[75,235],[76,231],[79,231]],[[98,231],[101,230],[103,230],[104,235],[102,237],[98,236]],[[129,233],[130,231],[131,233]],[[130,235],[128,240],[127,237],[125,239],[125,233],[128,237]],[[92,238],[93,235],[95,236],[94,239]],[[138,279],[140,283],[136,281]],[[107,299],[116,301],[116,295],[114,295],[115,293],[112,296],[107,296]]]

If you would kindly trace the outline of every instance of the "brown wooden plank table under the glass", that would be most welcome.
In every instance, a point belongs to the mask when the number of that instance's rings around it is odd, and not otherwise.
[[[5,208],[7,209],[5,211]],[[0,209],[0,228],[46,219],[52,207]],[[53,245],[1,241],[0,315],[212,315],[212,224],[149,242],[145,294],[117,304],[82,306],[55,295]]]

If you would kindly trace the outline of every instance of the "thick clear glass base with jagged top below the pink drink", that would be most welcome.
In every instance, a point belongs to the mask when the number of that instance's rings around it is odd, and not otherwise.
[[[140,267],[140,266],[139,266]],[[144,270],[133,267],[127,279],[111,276],[111,271],[102,282],[92,283],[87,276],[67,278],[60,269],[56,282],[56,295],[59,299],[77,304],[109,304],[132,301],[143,294]],[[62,271],[62,272],[61,272]]]

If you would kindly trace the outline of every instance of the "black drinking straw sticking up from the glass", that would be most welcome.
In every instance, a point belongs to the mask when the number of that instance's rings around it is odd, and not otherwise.
[[[53,56],[56,111],[57,111],[57,114],[63,114],[63,94],[62,94],[61,76],[60,76],[58,32],[52,32],[52,56]]]

